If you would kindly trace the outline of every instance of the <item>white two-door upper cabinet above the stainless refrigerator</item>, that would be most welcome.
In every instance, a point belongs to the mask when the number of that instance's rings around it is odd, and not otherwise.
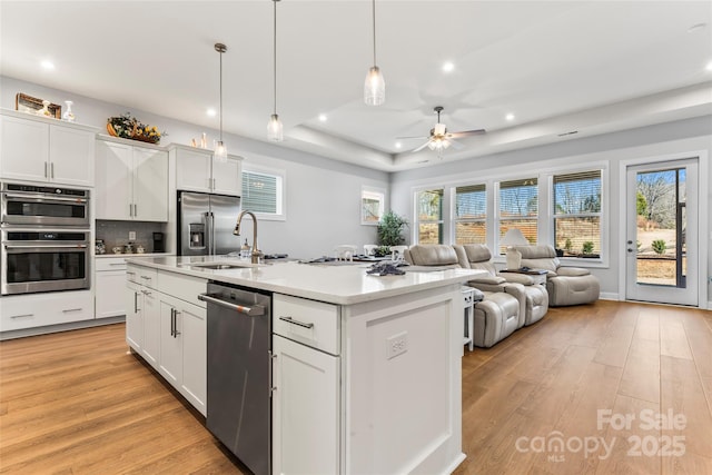
[[[176,167],[176,189],[240,196],[243,191],[243,158],[227,160],[212,157],[212,150],[171,145],[171,160]]]

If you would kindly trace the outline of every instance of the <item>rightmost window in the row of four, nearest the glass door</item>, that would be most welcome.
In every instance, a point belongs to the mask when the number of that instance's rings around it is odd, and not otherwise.
[[[554,176],[554,243],[564,256],[601,256],[601,170]]]

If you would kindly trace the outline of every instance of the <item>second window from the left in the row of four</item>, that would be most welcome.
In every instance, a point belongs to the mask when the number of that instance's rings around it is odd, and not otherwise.
[[[486,243],[486,186],[483,184],[455,188],[455,244]]]

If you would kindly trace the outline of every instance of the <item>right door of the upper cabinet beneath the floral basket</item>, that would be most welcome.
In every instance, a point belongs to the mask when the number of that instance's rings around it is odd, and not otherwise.
[[[168,220],[168,152],[134,149],[134,219]]]

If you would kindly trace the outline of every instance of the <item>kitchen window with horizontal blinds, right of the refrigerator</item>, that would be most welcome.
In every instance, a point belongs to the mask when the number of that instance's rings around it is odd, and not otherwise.
[[[286,219],[284,172],[243,170],[241,208],[263,219]]]

